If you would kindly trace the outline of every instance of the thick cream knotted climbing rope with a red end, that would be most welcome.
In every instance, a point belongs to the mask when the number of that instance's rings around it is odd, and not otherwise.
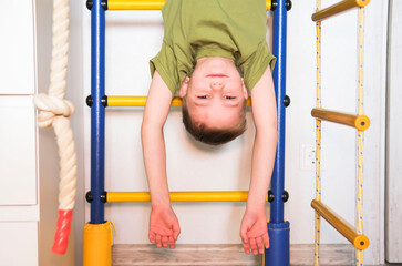
[[[75,203],[76,155],[69,116],[74,112],[72,102],[64,100],[69,52],[69,0],[53,1],[53,48],[48,94],[34,98],[40,111],[38,126],[53,126],[60,155],[59,217],[53,253],[64,254],[68,247],[72,209]]]

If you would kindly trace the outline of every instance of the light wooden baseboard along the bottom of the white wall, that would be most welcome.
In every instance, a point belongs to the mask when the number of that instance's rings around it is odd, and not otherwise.
[[[313,245],[291,245],[290,265],[313,265]],[[123,245],[112,248],[113,266],[261,266],[262,256],[246,255],[241,245],[177,245],[175,249],[152,245]],[[320,246],[320,265],[353,265],[352,245]]]

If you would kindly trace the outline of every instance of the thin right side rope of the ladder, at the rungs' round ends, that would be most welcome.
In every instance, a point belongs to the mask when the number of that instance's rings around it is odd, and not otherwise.
[[[363,44],[364,44],[364,8],[359,8],[359,43],[358,43],[358,114],[363,115]],[[363,131],[358,131],[358,184],[357,184],[357,215],[355,228],[363,234]],[[363,252],[355,249],[355,265],[363,265]]]

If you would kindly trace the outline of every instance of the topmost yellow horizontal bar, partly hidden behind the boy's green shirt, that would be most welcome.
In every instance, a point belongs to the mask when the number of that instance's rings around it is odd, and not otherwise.
[[[107,0],[109,10],[161,10],[165,0]],[[266,1],[267,10],[271,9],[271,1]]]

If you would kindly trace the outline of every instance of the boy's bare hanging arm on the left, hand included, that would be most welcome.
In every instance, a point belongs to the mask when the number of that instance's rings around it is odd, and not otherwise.
[[[141,126],[143,156],[152,204],[150,241],[158,247],[166,247],[167,244],[171,244],[171,248],[174,247],[174,242],[179,233],[178,221],[171,207],[163,134],[172,98],[172,92],[159,73],[155,71]]]

